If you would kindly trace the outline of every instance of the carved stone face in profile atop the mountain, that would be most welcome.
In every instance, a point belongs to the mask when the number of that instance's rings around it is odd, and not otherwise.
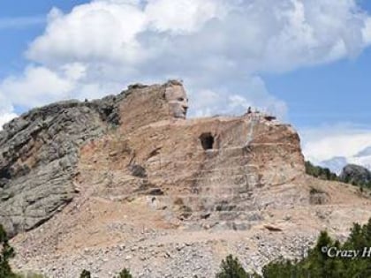
[[[165,91],[166,101],[169,103],[170,115],[178,118],[186,118],[188,98],[183,86],[168,86]]]

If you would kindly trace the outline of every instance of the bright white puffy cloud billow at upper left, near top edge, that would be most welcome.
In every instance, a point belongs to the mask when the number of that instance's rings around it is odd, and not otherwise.
[[[45,33],[33,41],[27,56],[47,65],[138,63],[145,53],[134,37],[144,29],[145,21],[133,4],[82,4],[69,14],[54,8]]]

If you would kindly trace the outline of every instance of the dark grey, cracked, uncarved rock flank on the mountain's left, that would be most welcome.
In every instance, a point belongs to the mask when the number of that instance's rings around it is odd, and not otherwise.
[[[71,201],[79,146],[117,124],[118,96],[33,109],[0,131],[0,223],[14,236]]]

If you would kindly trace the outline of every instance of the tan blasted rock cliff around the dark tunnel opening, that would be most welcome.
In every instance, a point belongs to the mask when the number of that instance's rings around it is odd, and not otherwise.
[[[181,86],[171,87],[183,94]],[[114,182],[97,196],[159,195],[152,206],[163,207],[170,222],[180,220],[187,229],[216,223],[248,229],[263,207],[310,202],[300,190],[282,192],[280,198],[271,194],[305,171],[299,136],[290,125],[261,113],[186,120],[166,109],[163,86],[152,94],[148,90],[151,86],[123,101],[115,139],[82,148],[80,182],[93,183],[102,171],[113,175]],[[182,101],[184,95],[179,104],[187,107]],[[91,171],[84,175],[86,169]]]

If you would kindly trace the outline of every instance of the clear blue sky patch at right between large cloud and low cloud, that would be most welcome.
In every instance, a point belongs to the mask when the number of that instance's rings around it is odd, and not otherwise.
[[[299,127],[353,122],[371,124],[371,49],[353,60],[269,75],[269,91],[287,101],[293,124]]]

